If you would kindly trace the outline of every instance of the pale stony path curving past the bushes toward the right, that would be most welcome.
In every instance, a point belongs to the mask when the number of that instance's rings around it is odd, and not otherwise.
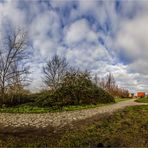
[[[78,111],[65,111],[59,113],[42,114],[19,114],[19,113],[0,113],[0,127],[36,127],[46,128],[64,127],[76,120],[83,120],[94,115],[112,113],[127,106],[148,105],[148,103],[137,103],[135,99],[122,101],[116,104],[97,107],[94,109],[85,109]]]

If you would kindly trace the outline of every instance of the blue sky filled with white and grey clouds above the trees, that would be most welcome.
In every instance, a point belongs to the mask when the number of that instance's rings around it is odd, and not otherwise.
[[[32,83],[53,55],[99,77],[111,72],[131,92],[148,92],[147,0],[0,0],[0,32],[28,31]]]

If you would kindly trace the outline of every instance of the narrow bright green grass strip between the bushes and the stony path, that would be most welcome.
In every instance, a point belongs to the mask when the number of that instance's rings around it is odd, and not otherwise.
[[[115,102],[126,101],[128,98],[116,98]],[[75,111],[75,110],[82,110],[82,109],[91,109],[106,105],[111,105],[113,103],[108,104],[96,104],[96,105],[69,105],[64,106],[63,108],[53,108],[53,107],[38,107],[33,106],[32,104],[22,104],[15,107],[2,107],[0,108],[0,112],[2,113],[48,113],[48,112],[62,112],[62,111]]]

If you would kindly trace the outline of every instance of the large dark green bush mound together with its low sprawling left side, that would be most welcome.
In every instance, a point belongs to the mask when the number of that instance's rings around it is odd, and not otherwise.
[[[114,98],[92,83],[89,74],[84,72],[67,73],[58,89],[42,92],[36,98],[37,105],[50,107],[110,102]]]

